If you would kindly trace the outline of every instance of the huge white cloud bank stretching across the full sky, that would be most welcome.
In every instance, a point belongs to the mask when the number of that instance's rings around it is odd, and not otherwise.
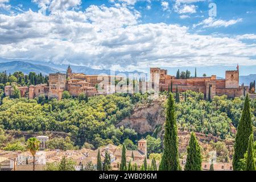
[[[178,24],[140,24],[140,16],[126,6],[95,5],[50,15],[0,14],[0,57],[120,69],[256,64],[253,44],[192,34]]]

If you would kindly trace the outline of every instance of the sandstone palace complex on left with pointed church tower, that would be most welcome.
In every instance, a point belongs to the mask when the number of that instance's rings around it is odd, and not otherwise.
[[[28,97],[33,99],[40,95],[48,98],[57,98],[61,100],[63,92],[68,91],[71,96],[79,96],[84,93],[87,96],[96,96],[97,94],[106,94],[105,92],[99,93],[97,91],[97,84],[105,82],[110,85],[111,78],[121,81],[123,77],[120,76],[101,76],[101,75],[85,75],[84,73],[72,73],[69,66],[67,74],[63,73],[50,73],[49,84],[22,86],[20,90],[21,97]],[[5,86],[5,95],[12,96],[13,86]]]

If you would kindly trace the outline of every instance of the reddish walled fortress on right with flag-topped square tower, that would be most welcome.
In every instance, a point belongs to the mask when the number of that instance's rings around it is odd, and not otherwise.
[[[228,97],[245,96],[249,92],[248,86],[239,85],[239,67],[237,70],[226,71],[225,79],[217,79],[216,75],[210,77],[190,77],[186,79],[176,78],[167,75],[166,69],[150,68],[151,82],[155,82],[156,76],[159,78],[159,89],[168,90],[172,85],[172,92],[185,92],[192,90],[204,93],[206,98],[226,95]]]

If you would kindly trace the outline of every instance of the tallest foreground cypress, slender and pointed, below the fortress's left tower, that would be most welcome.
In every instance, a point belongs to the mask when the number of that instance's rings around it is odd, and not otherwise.
[[[181,169],[178,155],[177,123],[175,102],[172,93],[169,94],[164,126],[164,152],[159,166],[160,171],[178,171]]]

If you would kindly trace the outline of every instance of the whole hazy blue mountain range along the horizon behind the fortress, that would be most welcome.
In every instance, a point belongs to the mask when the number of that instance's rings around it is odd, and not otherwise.
[[[34,63],[37,64],[34,64]],[[22,71],[23,73],[42,73],[43,75],[48,75],[49,73],[66,73],[68,68],[67,64],[53,64],[51,62],[44,62],[44,61],[32,61],[32,60],[10,60],[10,59],[1,59],[0,58],[0,72],[7,71],[7,73],[14,73],[15,71]],[[110,69],[93,69],[89,67],[83,66],[75,66],[71,65],[72,71],[74,73],[85,73],[86,75],[98,75],[101,73],[105,73],[110,75]],[[185,68],[185,67],[184,67]],[[183,68],[181,67],[181,70]],[[184,69],[185,70],[185,69]],[[170,71],[171,72],[171,71]],[[172,70],[174,72],[174,70]],[[129,73],[138,73],[141,74],[142,72],[134,71],[134,72],[118,72],[116,71],[115,74],[123,73],[128,76]],[[170,73],[172,74],[172,73]],[[217,77],[221,79],[222,77]],[[240,76],[240,84],[244,83],[245,85],[249,85],[250,82],[256,80],[256,74],[250,74],[247,76]]]

